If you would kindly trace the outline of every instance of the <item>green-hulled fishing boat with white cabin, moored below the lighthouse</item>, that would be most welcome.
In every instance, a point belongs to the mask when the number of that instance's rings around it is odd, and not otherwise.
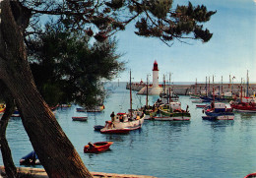
[[[161,104],[157,114],[152,117],[153,120],[159,121],[189,121],[190,118],[188,106],[186,110],[181,109],[179,101]]]

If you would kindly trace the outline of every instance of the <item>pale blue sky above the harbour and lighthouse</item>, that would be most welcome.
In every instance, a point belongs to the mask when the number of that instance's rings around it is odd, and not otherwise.
[[[157,60],[160,81],[171,74],[171,82],[202,82],[214,76],[215,82],[234,83],[246,80],[256,82],[256,0],[190,0],[196,5],[206,5],[209,11],[217,11],[204,27],[213,32],[212,39],[203,43],[189,40],[189,44],[177,40],[171,47],[160,39],[137,36],[134,25],[117,33],[118,51],[124,53],[126,71],[114,81],[152,82],[152,69]],[[174,0],[174,4],[187,5],[187,0]],[[176,5],[174,5],[176,7]]]

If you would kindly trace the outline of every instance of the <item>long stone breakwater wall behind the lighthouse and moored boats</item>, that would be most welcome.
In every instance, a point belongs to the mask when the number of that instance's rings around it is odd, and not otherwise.
[[[246,93],[247,92],[247,85],[246,84],[194,84],[194,85],[165,85],[165,88],[171,88],[174,93],[178,95],[189,95],[191,93],[203,93],[206,91],[206,86],[207,86],[207,91],[208,92],[213,92],[213,88],[215,88],[215,92],[232,92],[233,94],[239,95],[239,93],[242,92]],[[140,89],[146,87],[144,84],[139,84],[139,83],[132,83],[131,88],[132,90],[139,91]],[[149,87],[152,87],[152,85],[149,85]],[[163,88],[162,85],[160,85],[160,88]],[[130,84],[126,85],[126,89],[130,89]],[[248,86],[248,94],[253,95],[256,92],[256,84],[249,84]]]

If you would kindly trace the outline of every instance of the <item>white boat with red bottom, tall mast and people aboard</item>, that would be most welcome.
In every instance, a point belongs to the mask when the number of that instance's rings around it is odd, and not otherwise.
[[[130,71],[131,85],[131,71]],[[132,89],[130,86],[130,109],[128,113],[112,113],[111,121],[105,121],[105,126],[100,130],[101,134],[126,134],[130,131],[140,129],[144,123],[145,114],[140,110],[132,109]]]

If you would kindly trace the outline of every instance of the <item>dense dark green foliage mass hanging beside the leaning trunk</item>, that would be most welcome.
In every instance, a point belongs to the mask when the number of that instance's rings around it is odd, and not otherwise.
[[[34,81],[48,104],[103,102],[101,81],[114,78],[124,64],[118,61],[114,39],[90,39],[87,31],[48,24],[43,34],[27,41]]]

